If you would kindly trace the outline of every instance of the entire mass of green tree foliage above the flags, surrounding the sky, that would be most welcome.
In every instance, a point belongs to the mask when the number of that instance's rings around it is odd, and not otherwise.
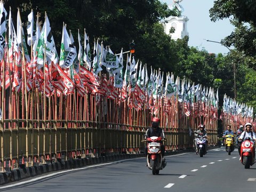
[[[198,51],[196,47],[189,47],[188,37],[173,41],[164,33],[159,21],[180,13],[156,0],[6,0],[4,5],[7,12],[9,6],[12,7],[14,23],[17,19],[16,8],[20,7],[25,29],[27,23],[24,21],[31,9],[35,14],[39,13],[41,26],[46,12],[57,50],[60,50],[62,22],[72,31],[76,43],[77,30],[79,29],[83,38],[86,28],[91,49],[93,39],[100,38],[103,45],[109,45],[114,53],[119,53],[122,47],[124,51],[129,50],[129,43],[134,40],[136,59],[147,63],[148,67],[173,72],[175,76],[185,77],[195,84],[213,87],[214,90],[219,88],[220,101],[225,93],[234,98],[235,66],[238,100],[255,104],[255,74],[247,68],[256,68],[254,0],[214,1],[210,10],[212,21],[233,17],[231,22],[236,27],[232,34],[222,40],[223,45],[235,46],[227,56],[209,54],[205,50]]]

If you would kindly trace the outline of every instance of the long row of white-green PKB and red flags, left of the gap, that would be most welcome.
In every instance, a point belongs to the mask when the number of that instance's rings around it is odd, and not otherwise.
[[[59,57],[46,13],[42,30],[39,30],[38,17],[34,23],[33,11],[28,15],[27,42],[19,10],[17,31],[14,29],[11,9],[7,20],[3,3],[0,17],[0,60],[5,74],[1,77],[1,84],[3,86],[5,82],[5,89],[12,86],[12,91],[19,92],[22,81],[25,81],[27,91],[36,88],[47,97],[54,93],[60,96],[74,92],[83,97],[90,93],[95,95],[96,102],[100,102],[103,97],[118,99],[120,103],[127,102],[130,108],[136,110],[150,109],[154,115],[159,114],[159,106],[163,107],[165,113],[170,113],[175,101],[184,103],[186,116],[218,118],[218,90],[214,92],[211,87],[195,85],[179,77],[174,81],[172,73],[164,74],[161,69],[153,70],[152,67],[148,75],[146,64],[136,61],[132,54],[127,54],[124,59],[123,50],[118,57],[110,47],[104,47],[99,39],[94,40],[91,54],[85,30],[84,46],[78,30],[76,47],[65,23]],[[6,27],[8,42],[5,42]],[[27,45],[31,47],[31,59]],[[25,68],[25,73],[22,73],[22,68]],[[103,73],[103,69],[107,73]]]

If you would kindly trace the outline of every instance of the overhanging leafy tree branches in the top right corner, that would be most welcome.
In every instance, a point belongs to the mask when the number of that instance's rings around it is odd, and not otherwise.
[[[255,68],[256,56],[256,1],[234,1],[234,0],[218,0],[214,1],[212,9],[210,9],[211,20],[230,18],[231,24],[235,26],[235,30],[226,38],[222,39],[222,44],[226,46],[235,46],[235,50],[246,56],[252,57],[251,66]]]

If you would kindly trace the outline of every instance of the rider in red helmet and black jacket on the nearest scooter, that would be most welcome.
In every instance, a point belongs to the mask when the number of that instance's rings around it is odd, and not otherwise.
[[[164,131],[163,129],[161,129],[159,127],[159,124],[160,124],[160,119],[158,117],[154,117],[152,119],[152,126],[149,127],[146,131],[146,134],[145,134],[145,139],[148,138],[148,137],[161,137],[162,139],[165,139],[164,137]],[[162,157],[163,157],[163,162],[165,162],[165,158],[164,158],[164,151],[165,151],[165,146],[161,145],[161,154],[162,154]],[[148,152],[148,149],[147,149],[147,146],[145,148],[145,154],[147,156],[147,152]]]

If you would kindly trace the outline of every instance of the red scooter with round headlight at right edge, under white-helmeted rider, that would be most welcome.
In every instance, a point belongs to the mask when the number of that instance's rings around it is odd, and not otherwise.
[[[255,147],[254,140],[251,138],[245,138],[241,145],[241,163],[245,169],[250,169],[255,163]]]

